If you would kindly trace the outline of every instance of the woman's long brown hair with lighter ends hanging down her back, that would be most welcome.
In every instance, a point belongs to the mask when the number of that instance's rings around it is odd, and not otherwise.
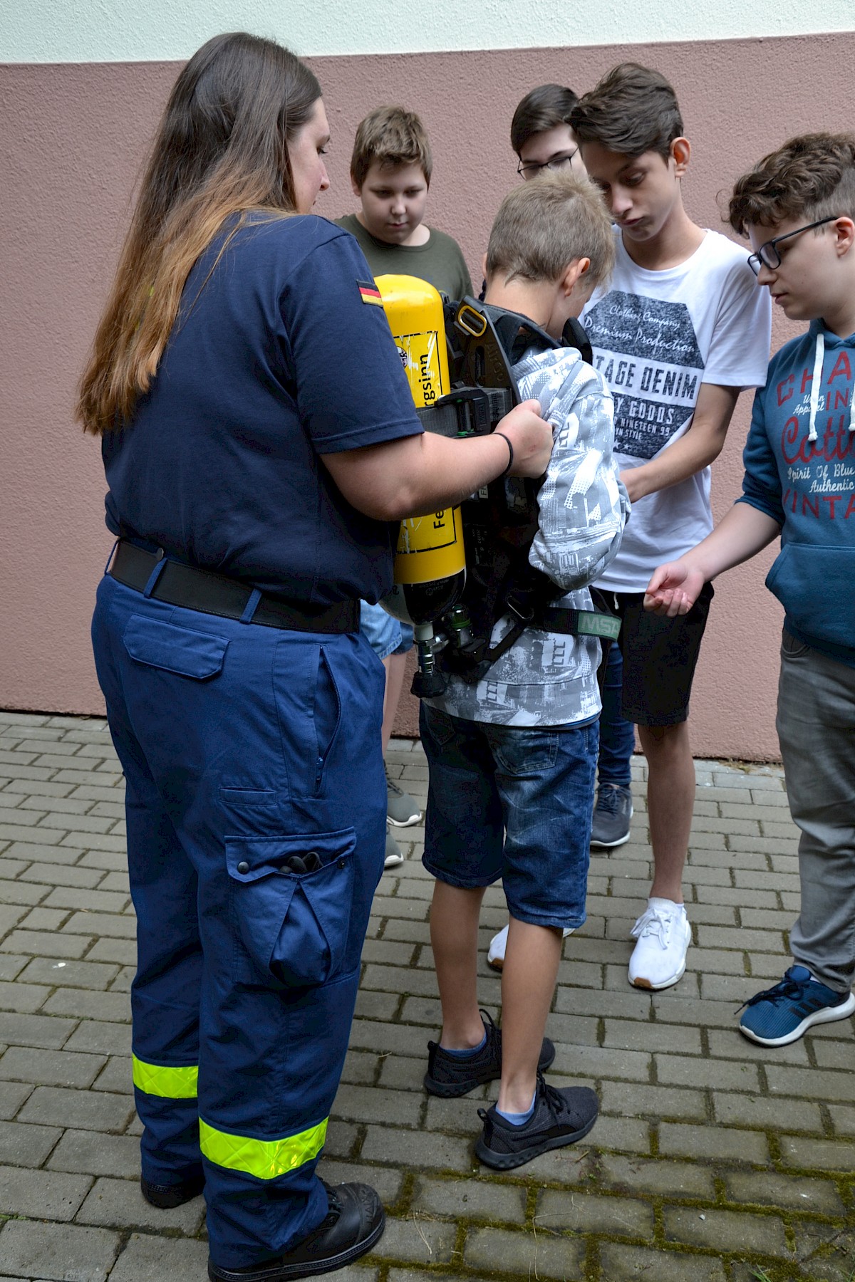
[[[294,213],[287,144],[319,97],[299,58],[246,32],[214,36],[181,72],[81,379],[77,417],[87,432],[129,419],[158,370],[190,271],[223,221],[250,209]]]

